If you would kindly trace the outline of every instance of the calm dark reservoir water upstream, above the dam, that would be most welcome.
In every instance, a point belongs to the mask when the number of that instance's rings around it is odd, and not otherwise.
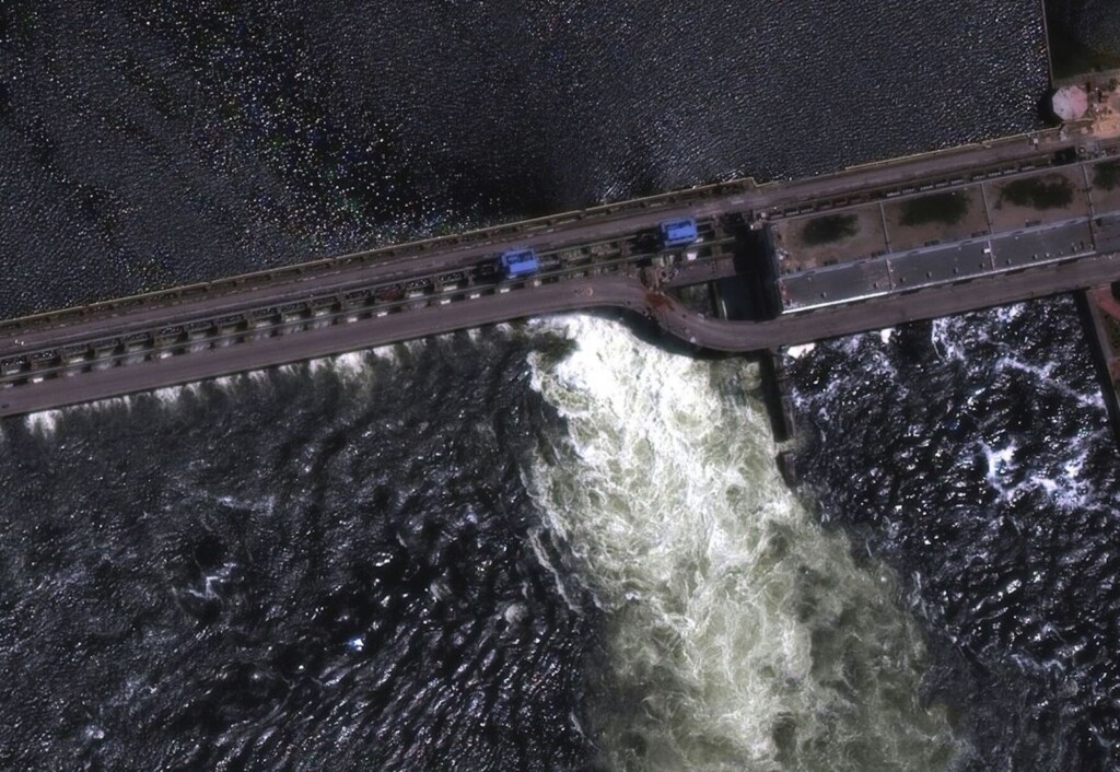
[[[0,313],[1030,128],[1029,3],[0,11]]]

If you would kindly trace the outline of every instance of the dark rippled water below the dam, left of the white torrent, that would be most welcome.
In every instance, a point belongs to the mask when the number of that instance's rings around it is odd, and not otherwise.
[[[556,428],[498,343],[7,430],[0,769],[578,768],[597,617],[530,546]]]

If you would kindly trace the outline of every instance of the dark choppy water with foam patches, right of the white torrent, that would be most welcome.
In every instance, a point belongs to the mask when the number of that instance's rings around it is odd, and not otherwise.
[[[1120,464],[1073,303],[816,346],[794,375],[822,513],[903,574],[983,769],[1116,769]]]

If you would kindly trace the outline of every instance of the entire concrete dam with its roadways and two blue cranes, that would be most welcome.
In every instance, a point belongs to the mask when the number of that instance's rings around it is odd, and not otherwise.
[[[0,322],[0,417],[560,311],[758,352],[1118,281],[1120,131],[1074,121]]]

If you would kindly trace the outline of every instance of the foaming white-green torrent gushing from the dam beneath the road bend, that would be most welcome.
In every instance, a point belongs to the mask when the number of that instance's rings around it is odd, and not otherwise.
[[[530,490],[607,612],[607,765],[946,769],[960,747],[920,704],[923,644],[894,580],[783,484],[756,369],[598,318],[541,324],[576,350],[532,360],[569,432]]]

